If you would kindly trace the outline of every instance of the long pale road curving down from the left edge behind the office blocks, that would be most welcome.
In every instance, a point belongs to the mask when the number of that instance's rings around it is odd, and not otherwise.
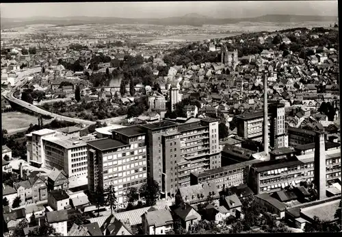
[[[53,114],[47,110],[42,110],[41,108],[38,108],[35,105],[31,105],[30,103],[27,103],[25,101],[22,101],[21,99],[16,99],[13,96],[13,93],[20,88],[22,85],[24,85],[27,82],[26,79],[23,79],[21,82],[19,82],[19,84],[14,87],[14,90],[12,90],[9,93],[5,93],[5,95],[3,95],[3,97],[5,97],[6,99],[8,99],[9,101],[11,101],[12,103],[16,103],[18,105],[21,105],[23,108],[27,108],[28,110],[31,110],[33,112],[36,112],[38,114],[43,114],[43,115],[47,115],[47,116],[51,116],[52,118],[60,118],[62,121],[67,121],[70,123],[81,123],[81,124],[85,124],[85,125],[93,125],[95,124],[95,122],[93,121],[88,121],[88,120],[84,120],[84,119],[79,119],[79,118],[70,118],[67,116],[62,116],[60,114]]]

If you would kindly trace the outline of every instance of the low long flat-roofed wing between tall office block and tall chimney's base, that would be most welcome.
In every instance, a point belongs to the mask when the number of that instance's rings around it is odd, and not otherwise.
[[[247,184],[250,166],[259,162],[261,160],[248,160],[202,173],[194,172],[191,174],[190,184],[211,183],[216,184],[217,188],[229,188],[231,186]]]

